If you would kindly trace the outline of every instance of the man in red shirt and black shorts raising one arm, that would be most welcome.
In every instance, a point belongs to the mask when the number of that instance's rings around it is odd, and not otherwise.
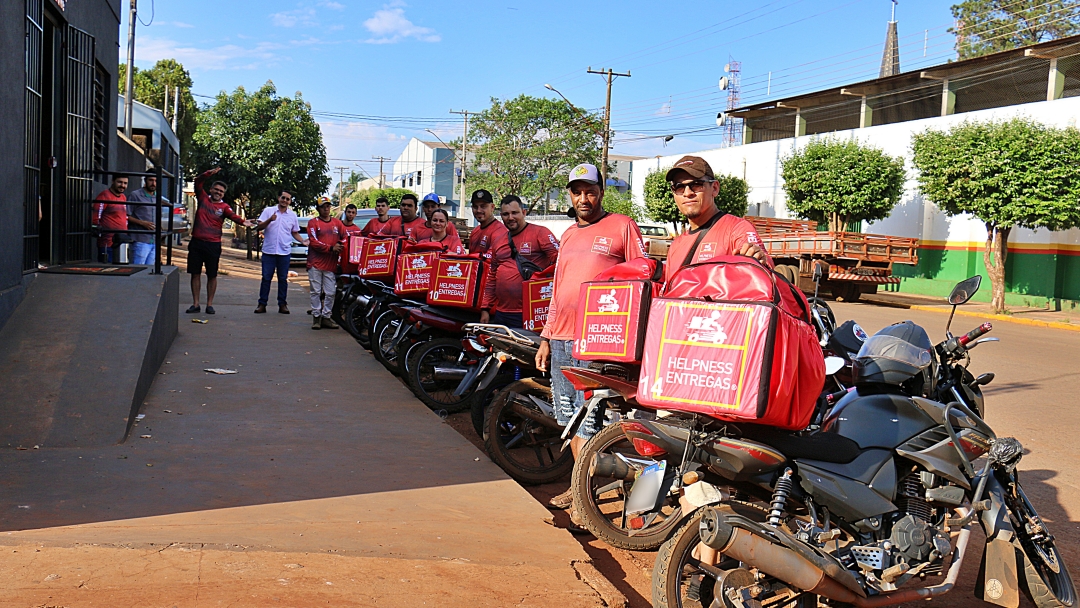
[[[215,181],[210,187],[210,193],[204,186],[206,179],[217,175],[221,167],[214,167],[195,177],[195,199],[199,208],[194,221],[191,222],[191,241],[188,242],[188,274],[191,275],[191,307],[185,312],[194,314],[200,311],[199,292],[202,289],[202,268],[206,266],[206,314],[214,314],[214,294],[217,292],[217,266],[221,260],[221,226],[226,219],[242,224],[247,228],[255,226],[249,219],[244,219],[232,212],[225,202],[228,186],[225,181]]]

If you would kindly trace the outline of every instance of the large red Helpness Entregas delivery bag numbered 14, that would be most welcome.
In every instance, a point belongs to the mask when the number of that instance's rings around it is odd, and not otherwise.
[[[638,402],[806,428],[825,382],[808,311],[798,288],[746,257],[679,269],[649,310]]]

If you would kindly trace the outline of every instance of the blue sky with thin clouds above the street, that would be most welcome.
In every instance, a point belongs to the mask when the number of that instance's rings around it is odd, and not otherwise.
[[[904,71],[955,56],[949,4],[901,1]],[[141,0],[139,21],[150,25],[137,28],[136,65],[176,58],[201,95],[267,80],[280,94],[302,92],[323,125],[330,166],[359,164],[368,174],[378,172],[373,156],[395,158],[410,137],[431,139],[424,129],[460,136],[450,109],[554,96],[544,83],[598,109],[604,79],[586,68],[630,70],[613,86],[612,153],[651,157],[721,145],[715,118],[728,98],[717,81],[729,59],[741,63],[743,105],[875,78],[891,8],[888,0]],[[675,137],[665,146],[664,135]]]

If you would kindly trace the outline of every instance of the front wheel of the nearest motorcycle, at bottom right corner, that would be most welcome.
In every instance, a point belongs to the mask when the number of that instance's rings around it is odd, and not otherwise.
[[[1038,608],[1072,607],[1077,591],[1053,535],[1015,478],[1005,485],[1005,504],[1024,551],[1024,591]]]

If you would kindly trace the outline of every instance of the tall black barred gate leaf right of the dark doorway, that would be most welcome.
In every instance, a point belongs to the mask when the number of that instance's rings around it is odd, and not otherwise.
[[[94,181],[94,37],[68,26],[65,98],[67,163],[65,163],[64,261],[91,259],[91,199]]]

